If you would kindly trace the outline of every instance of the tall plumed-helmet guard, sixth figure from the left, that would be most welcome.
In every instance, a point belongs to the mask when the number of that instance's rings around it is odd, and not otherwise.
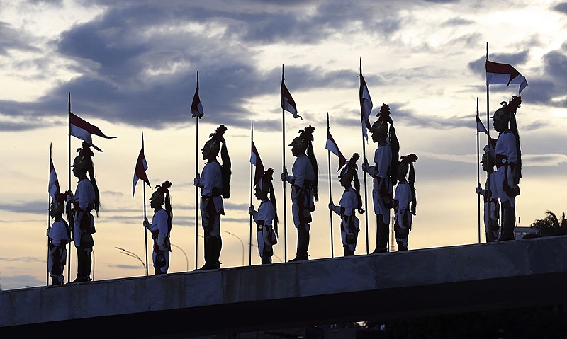
[[[313,131],[313,126],[299,130],[299,136],[289,144],[291,154],[296,157],[291,175],[287,170],[281,173],[281,180],[291,184],[291,213],[297,229],[296,258],[290,261],[309,259],[309,223],[312,221],[311,212],[315,211],[315,201],[319,201],[319,167],[313,151]]]

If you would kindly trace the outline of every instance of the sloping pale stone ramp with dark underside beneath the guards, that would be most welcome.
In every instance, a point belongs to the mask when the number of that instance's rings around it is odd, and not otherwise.
[[[0,292],[0,338],[189,338],[567,302],[567,236]],[[489,292],[495,290],[496,293]]]

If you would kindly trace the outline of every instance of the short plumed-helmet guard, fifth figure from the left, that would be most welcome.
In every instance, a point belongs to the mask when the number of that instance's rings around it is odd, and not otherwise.
[[[262,265],[271,264],[271,257],[274,255],[274,246],[277,241],[276,232],[278,229],[278,214],[276,209],[276,195],[272,178],[274,169],[268,168],[262,178],[254,188],[254,196],[260,200],[260,206],[256,211],[254,205],[250,206],[248,213],[252,215],[257,226],[257,241]],[[269,197],[268,197],[269,195]],[[276,231],[274,231],[274,229]]]

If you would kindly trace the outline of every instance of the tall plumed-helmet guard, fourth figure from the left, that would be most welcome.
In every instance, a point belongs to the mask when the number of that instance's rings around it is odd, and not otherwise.
[[[223,241],[220,237],[220,216],[225,214],[223,198],[230,197],[231,162],[226,148],[223,134],[227,128],[220,125],[215,133],[201,149],[203,160],[207,163],[203,167],[201,176],[197,176],[194,185],[201,188],[201,220],[205,231],[205,265],[200,270],[220,268],[220,250]],[[218,160],[218,152],[223,161]]]

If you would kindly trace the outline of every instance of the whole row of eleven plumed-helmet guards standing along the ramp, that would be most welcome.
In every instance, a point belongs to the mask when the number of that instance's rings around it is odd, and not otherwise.
[[[515,221],[515,197],[520,194],[518,188],[520,178],[520,144],[515,123],[515,113],[520,107],[521,98],[514,96],[510,103],[504,103],[493,115],[495,130],[500,132],[498,139],[492,139],[485,148],[483,169],[487,172],[485,188],[478,185],[477,194],[485,197],[485,226],[487,241],[513,239]],[[376,214],[376,249],[372,253],[388,251],[389,216],[394,209],[395,241],[399,251],[408,250],[408,236],[412,229],[412,218],[415,215],[415,170],[417,161],[415,154],[399,156],[400,144],[395,134],[390,108],[383,104],[378,120],[369,128],[371,138],[377,144],[374,151],[374,164],[366,159],[361,165],[362,171],[373,180],[372,200]],[[510,126],[512,130],[510,130]],[[206,164],[202,173],[194,179],[194,185],[201,188],[201,222],[204,229],[205,264],[199,270],[220,268],[220,252],[222,239],[220,236],[220,219],[225,214],[223,200],[230,197],[231,162],[223,135],[227,128],[220,125],[210,134],[202,151]],[[291,185],[291,213],[293,224],[297,230],[296,257],[291,261],[308,260],[310,242],[310,223],[315,202],[318,201],[318,163],[313,151],[312,126],[299,131],[293,139],[291,154],[296,158],[291,174],[284,168],[281,181]],[[79,180],[75,193],[70,191],[58,193],[50,208],[50,216],[55,219],[47,230],[50,238],[47,269],[53,285],[61,285],[64,281],[63,268],[67,258],[69,234],[77,248],[77,278],[73,282],[91,281],[91,252],[94,246],[93,234],[94,210],[99,212],[99,189],[94,176],[93,152],[90,145],[84,142],[75,157],[72,172]],[[222,164],[218,161],[218,156]],[[332,198],[328,204],[330,211],[340,216],[341,239],[344,255],[354,255],[357,246],[360,222],[357,217],[364,213],[360,195],[360,182],[357,175],[359,154],[340,169],[339,181],[344,192],[335,205]],[[493,170],[496,165],[497,170]],[[278,215],[276,197],[274,195],[274,170],[268,168],[254,180],[254,196],[259,200],[258,209],[249,207],[249,214],[257,226],[257,242],[262,264],[271,263],[274,255],[273,246],[278,242]],[[152,222],[144,220],[143,226],[152,234],[154,241],[152,261],[155,274],[165,274],[169,268],[169,252],[172,245],[169,236],[172,229],[172,202],[169,188],[172,183],[165,181],[157,185],[150,197],[150,206],[154,209]],[[394,192],[395,186],[395,192]],[[491,189],[492,188],[492,189]],[[62,214],[67,202],[67,210],[71,209],[69,225]],[[499,202],[502,206],[501,230],[498,223]]]

